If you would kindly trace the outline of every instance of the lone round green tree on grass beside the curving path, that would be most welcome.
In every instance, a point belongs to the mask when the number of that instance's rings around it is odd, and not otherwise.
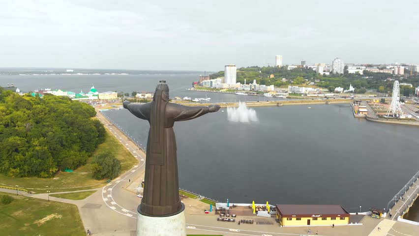
[[[93,177],[96,179],[115,178],[120,174],[120,161],[109,152],[96,155],[91,163]]]

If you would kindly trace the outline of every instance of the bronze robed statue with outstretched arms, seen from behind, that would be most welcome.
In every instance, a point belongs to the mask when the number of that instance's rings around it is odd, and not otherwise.
[[[153,101],[145,104],[123,102],[123,107],[140,119],[150,123],[147,141],[146,176],[143,200],[138,212],[148,216],[171,216],[184,209],[179,198],[175,121],[198,118],[217,112],[219,105],[188,107],[169,102],[169,87],[160,81]]]

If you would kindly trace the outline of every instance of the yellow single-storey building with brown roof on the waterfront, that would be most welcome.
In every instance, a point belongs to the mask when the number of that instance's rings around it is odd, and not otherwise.
[[[348,225],[350,214],[340,205],[276,205],[281,226]]]

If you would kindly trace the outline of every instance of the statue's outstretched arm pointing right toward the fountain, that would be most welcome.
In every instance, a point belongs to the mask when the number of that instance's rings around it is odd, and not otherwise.
[[[220,110],[219,105],[210,105],[208,107],[188,107],[183,106],[180,104],[173,104],[176,116],[174,117],[174,121],[183,121],[198,118],[202,115],[205,115],[210,112],[217,112]]]

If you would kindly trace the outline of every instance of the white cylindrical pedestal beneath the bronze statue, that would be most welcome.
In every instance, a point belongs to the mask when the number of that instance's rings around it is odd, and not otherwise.
[[[138,207],[137,236],[186,236],[185,206],[171,216],[143,215]]]

